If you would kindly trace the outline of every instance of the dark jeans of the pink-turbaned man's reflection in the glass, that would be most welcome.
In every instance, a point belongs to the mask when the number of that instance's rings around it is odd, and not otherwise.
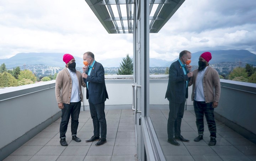
[[[204,123],[203,117],[206,116],[206,121],[208,124],[208,129],[210,132],[211,138],[216,138],[216,124],[214,120],[214,108],[212,107],[213,102],[198,102],[194,101],[194,111],[196,114],[196,125],[199,135],[203,135],[204,132]]]

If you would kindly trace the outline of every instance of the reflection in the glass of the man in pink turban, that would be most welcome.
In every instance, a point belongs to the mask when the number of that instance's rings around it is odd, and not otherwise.
[[[220,98],[220,78],[218,72],[209,66],[212,59],[210,52],[204,52],[200,55],[198,69],[193,71],[193,76],[189,86],[193,84],[192,101],[194,112],[196,114],[196,125],[198,136],[194,141],[198,142],[203,139],[204,132],[204,114],[207,120],[210,132],[209,146],[216,144],[216,124],[214,120],[214,108],[218,107]]]

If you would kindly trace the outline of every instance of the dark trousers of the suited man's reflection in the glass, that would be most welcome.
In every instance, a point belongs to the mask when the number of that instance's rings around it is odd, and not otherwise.
[[[169,102],[169,118],[167,122],[168,139],[181,135],[181,119],[184,114],[185,101],[183,103]]]

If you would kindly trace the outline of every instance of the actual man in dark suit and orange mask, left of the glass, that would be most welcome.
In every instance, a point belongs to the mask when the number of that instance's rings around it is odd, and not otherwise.
[[[82,77],[86,86],[86,99],[89,101],[94,135],[86,142],[99,140],[95,145],[100,146],[107,142],[107,123],[105,118],[105,101],[108,98],[105,85],[105,71],[103,66],[94,60],[92,52],[83,55],[84,67]],[[100,138],[101,135],[101,138]]]

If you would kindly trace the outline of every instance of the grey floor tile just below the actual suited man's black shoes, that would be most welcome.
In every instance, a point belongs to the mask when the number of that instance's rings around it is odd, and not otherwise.
[[[91,146],[87,155],[112,155],[114,146]]]

